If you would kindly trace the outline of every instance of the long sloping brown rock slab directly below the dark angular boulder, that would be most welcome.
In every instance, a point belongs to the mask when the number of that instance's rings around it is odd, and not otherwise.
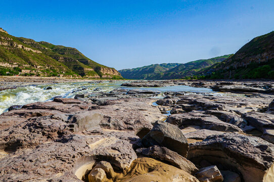
[[[136,150],[136,153],[167,162],[190,174],[195,174],[198,171],[197,167],[191,161],[165,147],[151,146],[149,148],[140,148]]]

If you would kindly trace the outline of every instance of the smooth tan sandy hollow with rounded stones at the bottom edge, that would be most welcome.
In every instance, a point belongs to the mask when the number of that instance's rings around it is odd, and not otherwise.
[[[199,182],[193,175],[153,158],[140,157],[125,170],[117,170],[107,161],[90,161],[80,166],[75,175],[85,182],[189,181]]]

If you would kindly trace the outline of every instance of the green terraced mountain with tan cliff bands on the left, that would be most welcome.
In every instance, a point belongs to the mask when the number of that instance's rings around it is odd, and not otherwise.
[[[0,75],[82,76],[118,78],[114,68],[101,65],[75,48],[15,37],[0,28]]]

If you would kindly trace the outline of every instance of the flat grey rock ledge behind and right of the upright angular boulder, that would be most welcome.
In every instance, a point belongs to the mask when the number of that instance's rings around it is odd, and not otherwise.
[[[239,127],[223,122],[215,116],[206,115],[199,112],[173,114],[166,119],[166,122],[174,124],[179,128],[196,125],[204,129],[216,131],[242,131]]]

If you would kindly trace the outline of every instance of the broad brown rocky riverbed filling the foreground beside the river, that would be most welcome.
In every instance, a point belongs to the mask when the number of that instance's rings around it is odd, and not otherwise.
[[[274,181],[274,83],[153,82],[11,107],[0,115],[1,180]]]

